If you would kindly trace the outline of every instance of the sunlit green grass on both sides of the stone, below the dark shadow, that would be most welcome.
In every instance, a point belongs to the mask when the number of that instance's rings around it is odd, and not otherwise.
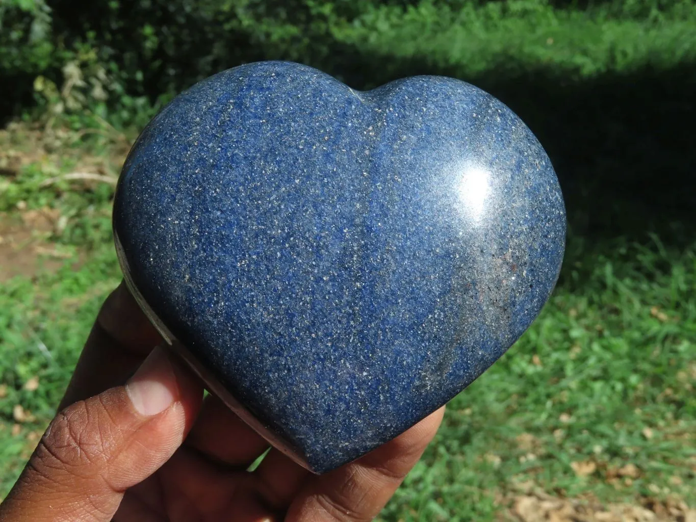
[[[60,172],[74,167],[77,152],[61,152]],[[120,277],[109,185],[41,187],[41,161],[6,181],[3,219],[19,214],[19,201],[69,214],[65,231],[50,239],[81,252],[81,264],[0,283],[0,495],[53,415],[100,302]],[[451,402],[436,442],[383,520],[492,520],[500,498],[529,483],[606,501],[695,498],[695,287],[696,245],[677,250],[652,237],[590,246],[570,237],[551,301]],[[26,390],[32,377],[38,389]],[[35,420],[13,434],[17,404]],[[573,463],[588,461],[594,473],[578,476]],[[631,485],[610,480],[626,464],[640,476]]]

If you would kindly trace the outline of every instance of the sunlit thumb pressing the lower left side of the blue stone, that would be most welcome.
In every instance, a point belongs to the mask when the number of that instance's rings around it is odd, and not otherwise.
[[[181,445],[202,398],[198,380],[155,348],[125,386],[58,413],[0,506],[0,521],[110,521],[125,490]]]

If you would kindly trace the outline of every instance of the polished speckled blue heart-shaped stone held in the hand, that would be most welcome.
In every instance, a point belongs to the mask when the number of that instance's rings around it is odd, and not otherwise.
[[[413,77],[359,92],[264,62],[152,120],[114,231],[166,338],[322,473],[427,416],[519,338],[555,285],[565,212],[535,136],[478,88]]]

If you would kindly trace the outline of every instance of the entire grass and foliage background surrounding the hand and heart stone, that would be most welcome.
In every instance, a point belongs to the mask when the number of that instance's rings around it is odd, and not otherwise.
[[[129,143],[175,93],[262,59],[354,88],[470,81],[539,136],[566,198],[553,298],[384,519],[532,522],[548,496],[557,517],[696,516],[693,0],[0,0],[0,238],[21,239],[0,242],[3,491],[118,283]],[[11,271],[29,248],[38,268]]]

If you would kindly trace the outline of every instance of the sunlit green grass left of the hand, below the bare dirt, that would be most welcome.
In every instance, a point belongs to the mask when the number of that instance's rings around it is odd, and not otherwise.
[[[94,251],[79,271],[0,283],[0,496],[55,413],[101,301],[120,281],[115,255]],[[38,377],[36,390],[24,385]],[[13,418],[19,404],[34,422]],[[21,426],[13,433],[13,426]]]

